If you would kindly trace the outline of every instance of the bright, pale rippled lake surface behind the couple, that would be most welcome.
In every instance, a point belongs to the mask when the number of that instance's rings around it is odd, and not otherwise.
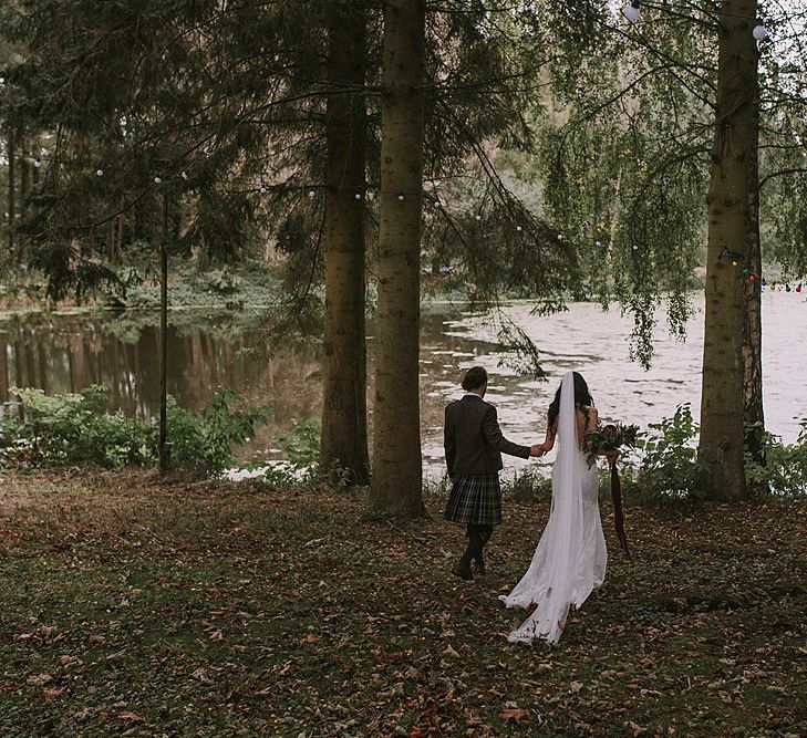
[[[693,300],[694,313],[687,323],[686,341],[679,343],[666,330],[666,314],[659,313],[654,331],[655,356],[652,367],[644,371],[630,361],[630,335],[633,320],[620,315],[618,308],[603,312],[592,303],[576,303],[565,313],[549,316],[530,315],[530,305],[509,308],[514,321],[536,342],[542,352],[548,382],[531,382],[518,376],[507,366],[499,366],[500,354],[492,346],[478,355],[467,355],[463,340],[487,336],[493,331],[477,316],[465,315],[446,321],[441,346],[445,366],[459,370],[474,364],[485,366],[492,374],[486,399],[499,413],[505,435],[513,440],[529,443],[544,439],[546,408],[569,370],[580,371],[603,419],[637,423],[646,427],[675,408],[690,403],[697,420],[701,398],[701,363],[703,358],[703,298]],[[767,428],[784,438],[796,440],[799,419],[807,416],[807,303],[794,292],[763,294],[763,370]],[[428,358],[424,361],[430,361]],[[443,404],[458,397],[455,381],[462,372],[451,371],[445,378],[432,381],[426,406]],[[439,420],[426,414],[424,454],[436,462],[442,458]],[[506,459],[510,467],[518,459]]]

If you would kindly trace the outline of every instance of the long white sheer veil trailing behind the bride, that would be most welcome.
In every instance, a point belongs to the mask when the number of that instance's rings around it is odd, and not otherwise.
[[[557,643],[569,605],[582,604],[594,586],[590,567],[581,555],[584,537],[581,465],[586,461],[577,440],[571,372],[560,385],[557,443],[549,521],[527,573],[510,594],[499,597],[508,607],[537,604],[532,614],[509,634],[510,642],[544,638]]]

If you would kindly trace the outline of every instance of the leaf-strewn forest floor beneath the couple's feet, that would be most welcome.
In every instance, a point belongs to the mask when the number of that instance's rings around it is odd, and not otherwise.
[[[807,735],[807,503],[602,505],[606,584],[513,645],[546,500],[451,573],[444,500],[153,471],[0,475],[0,735]]]

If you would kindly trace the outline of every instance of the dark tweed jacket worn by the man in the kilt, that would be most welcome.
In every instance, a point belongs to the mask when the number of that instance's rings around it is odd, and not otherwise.
[[[496,408],[477,395],[465,395],[445,408],[445,462],[448,476],[494,474],[501,469],[501,454],[529,457],[529,446],[519,446],[501,435]]]

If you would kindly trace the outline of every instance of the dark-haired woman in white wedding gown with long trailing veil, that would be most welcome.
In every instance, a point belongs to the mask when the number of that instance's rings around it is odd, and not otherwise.
[[[508,607],[537,605],[509,634],[511,643],[544,638],[557,643],[569,606],[579,607],[606,576],[606,538],[597,502],[597,465],[586,458],[586,432],[597,426],[598,413],[588,385],[569,372],[549,405],[546,454],[558,439],[552,468],[552,505],[532,562],[513,592],[500,595]],[[604,455],[615,459],[619,451]]]

